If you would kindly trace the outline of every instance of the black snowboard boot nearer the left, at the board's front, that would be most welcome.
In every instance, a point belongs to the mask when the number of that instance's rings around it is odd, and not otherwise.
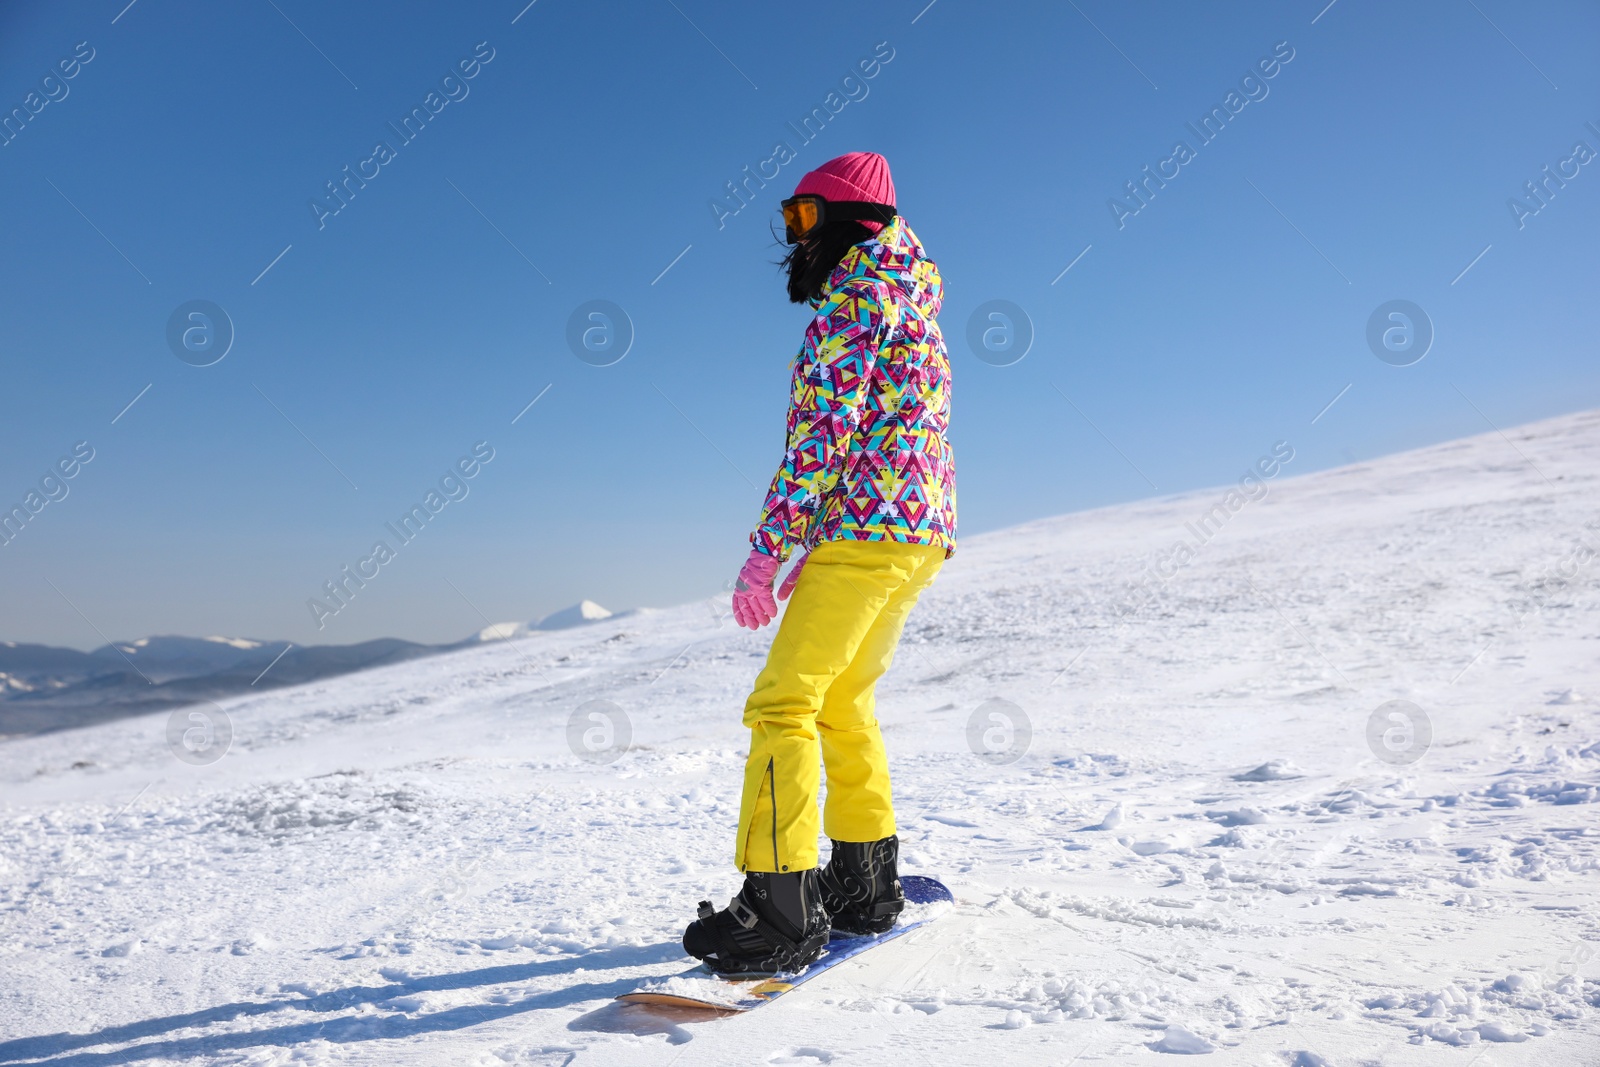
[[[683,931],[683,950],[717,974],[800,971],[827,944],[818,870],[747,870],[739,896],[723,910],[701,901],[699,918]]]

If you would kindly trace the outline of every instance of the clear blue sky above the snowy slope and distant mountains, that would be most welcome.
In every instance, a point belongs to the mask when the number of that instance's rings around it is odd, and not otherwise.
[[[890,158],[944,272],[965,534],[1280,440],[1299,474],[1600,405],[1600,165],[1523,192],[1600,150],[1589,3],[123,3],[0,8],[0,107],[30,115],[0,147],[0,504],[93,448],[0,547],[0,640],[434,641],[715,592],[806,318],[768,227],[848,150]],[[632,323],[610,366],[566,344],[594,299]],[[1434,326],[1410,366],[1366,344],[1394,299]],[[190,301],[232,322],[210,366],[166,341]],[[1030,320],[1021,362],[970,349],[987,301]],[[478,442],[318,630],[306,601]]]

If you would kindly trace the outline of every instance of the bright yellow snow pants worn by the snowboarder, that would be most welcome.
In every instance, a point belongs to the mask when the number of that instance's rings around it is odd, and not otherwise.
[[[818,865],[818,747],[827,768],[822,827],[835,841],[894,833],[890,766],[872,691],[944,549],[827,541],[813,549],[744,704],[750,758],[739,805],[739,870]]]

